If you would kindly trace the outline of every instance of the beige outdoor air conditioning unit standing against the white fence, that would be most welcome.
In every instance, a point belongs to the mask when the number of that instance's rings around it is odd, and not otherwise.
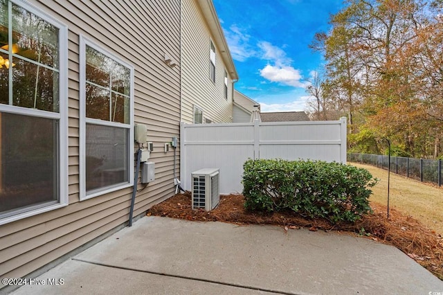
[[[211,211],[219,200],[219,169],[204,168],[192,172],[192,209]]]

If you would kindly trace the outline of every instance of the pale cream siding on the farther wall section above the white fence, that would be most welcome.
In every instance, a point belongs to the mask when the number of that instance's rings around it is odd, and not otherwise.
[[[195,0],[181,1],[181,120],[193,123],[194,105],[204,119],[232,122],[232,78],[228,73],[228,100],[224,98],[224,69],[219,46],[210,34]],[[214,21],[214,20],[211,20]],[[215,45],[215,83],[210,80],[210,41]]]

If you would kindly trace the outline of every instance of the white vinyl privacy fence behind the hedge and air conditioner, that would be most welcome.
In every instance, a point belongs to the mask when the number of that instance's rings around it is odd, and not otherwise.
[[[242,193],[248,159],[311,159],[346,163],[346,118],[336,121],[181,123],[180,178],[192,190],[191,174],[219,168],[221,194]]]

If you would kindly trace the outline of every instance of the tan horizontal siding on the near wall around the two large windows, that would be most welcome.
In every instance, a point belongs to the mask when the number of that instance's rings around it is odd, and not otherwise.
[[[26,276],[128,220],[132,188],[79,200],[80,34],[135,68],[134,121],[154,143],[156,179],[137,193],[134,216],[174,194],[174,154],[163,144],[179,135],[180,0],[29,2],[69,29],[69,206],[0,226],[1,278]],[[178,163],[179,150],[177,175]]]

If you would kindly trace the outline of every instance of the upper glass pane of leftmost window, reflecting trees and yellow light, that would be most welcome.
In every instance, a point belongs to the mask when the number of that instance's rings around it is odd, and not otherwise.
[[[0,0],[0,103],[59,111],[58,35],[48,21]]]

